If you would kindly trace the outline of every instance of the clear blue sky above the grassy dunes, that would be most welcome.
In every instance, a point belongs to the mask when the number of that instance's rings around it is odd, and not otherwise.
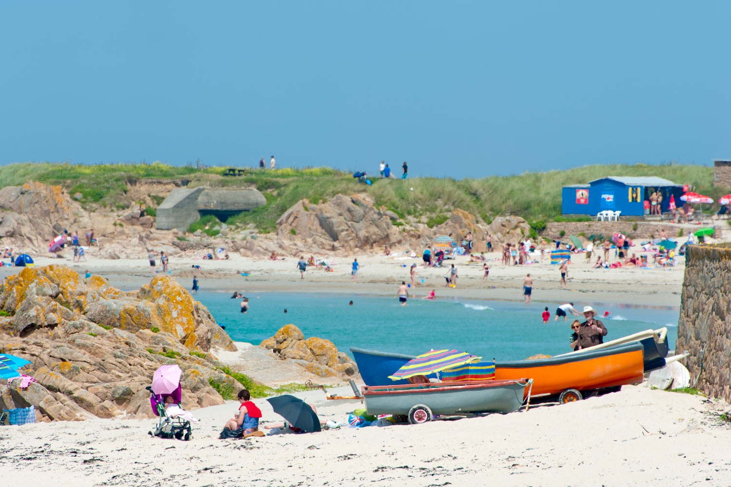
[[[0,164],[712,164],[730,22],[727,1],[7,1]]]

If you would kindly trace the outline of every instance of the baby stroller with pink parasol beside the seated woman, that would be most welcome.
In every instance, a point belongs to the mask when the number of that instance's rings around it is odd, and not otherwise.
[[[149,432],[151,436],[176,438],[178,440],[185,441],[190,440],[192,433],[190,421],[178,418],[177,416],[170,417],[167,415],[167,410],[165,409],[165,400],[168,397],[172,397],[173,404],[177,404],[178,406],[180,406],[181,400],[183,399],[183,391],[180,384],[180,372],[181,369],[177,365],[162,366],[157,370],[157,372],[155,372],[152,386],[146,387],[151,394],[150,406],[152,407],[152,412],[155,413],[156,416],[159,416],[159,421],[157,421],[156,426]],[[165,377],[166,374],[167,377]],[[166,384],[162,383],[161,377],[162,380],[167,380],[167,388],[165,387]],[[170,385],[171,380],[174,381],[172,386]],[[177,384],[177,388],[173,388],[175,384]],[[172,390],[172,392],[162,392],[164,390]],[[162,394],[156,394],[155,391],[160,391]]]

